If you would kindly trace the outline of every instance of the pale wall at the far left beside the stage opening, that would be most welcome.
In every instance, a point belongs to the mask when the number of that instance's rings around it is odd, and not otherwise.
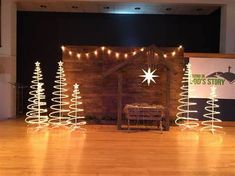
[[[0,120],[16,114],[16,4],[2,0],[1,8]]]

